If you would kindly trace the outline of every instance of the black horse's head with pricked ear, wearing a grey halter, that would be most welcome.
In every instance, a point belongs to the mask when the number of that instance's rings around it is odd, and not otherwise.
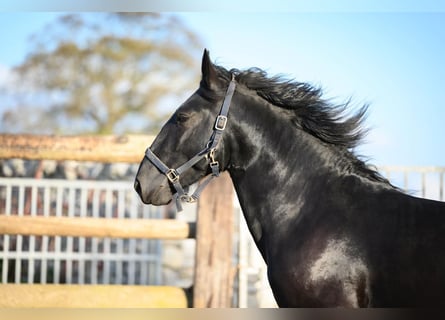
[[[180,208],[181,200],[192,202],[202,191],[189,196],[190,185],[227,167],[223,133],[230,130],[227,113],[235,81],[219,76],[207,50],[201,70],[198,90],[162,127],[139,166],[134,186],[146,204],[165,205],[176,196]]]

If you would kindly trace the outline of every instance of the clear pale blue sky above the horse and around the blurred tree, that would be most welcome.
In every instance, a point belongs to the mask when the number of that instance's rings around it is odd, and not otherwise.
[[[0,74],[58,13],[0,13]],[[445,165],[445,13],[180,12],[217,63],[260,67],[370,103],[359,153],[377,165]]]

